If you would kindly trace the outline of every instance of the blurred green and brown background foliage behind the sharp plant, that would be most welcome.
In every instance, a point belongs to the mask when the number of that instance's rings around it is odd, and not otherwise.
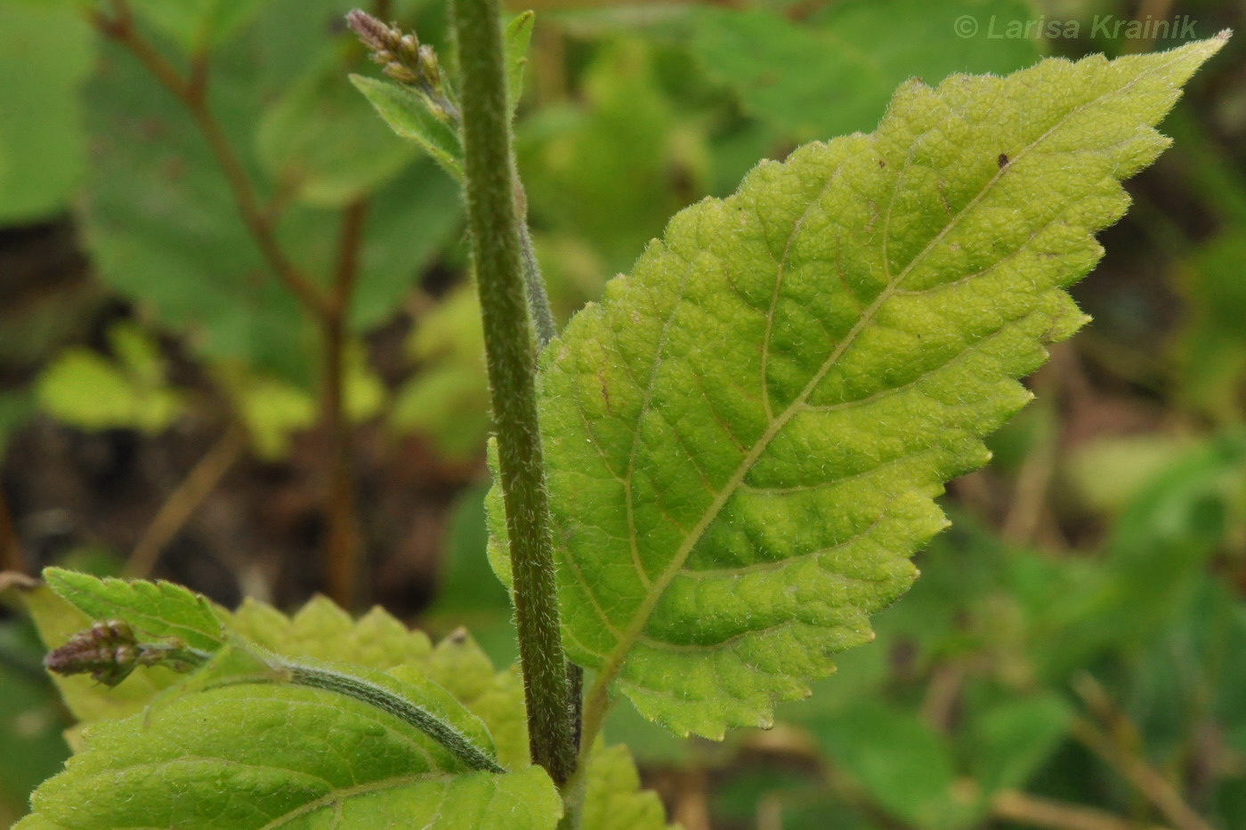
[[[452,66],[444,0],[378,0]],[[350,88],[341,0],[0,0],[0,551],[224,603],[380,602],[513,657],[485,563],[487,395],[454,183]],[[1163,49],[1240,0],[531,0],[517,155],[554,308],[906,77]],[[972,37],[953,25],[979,24]],[[988,36],[1080,21],[1077,39]],[[688,830],[1246,829],[1246,61],[1165,125],[953,530],[774,730],[609,738]],[[67,749],[0,618],[0,820]]]

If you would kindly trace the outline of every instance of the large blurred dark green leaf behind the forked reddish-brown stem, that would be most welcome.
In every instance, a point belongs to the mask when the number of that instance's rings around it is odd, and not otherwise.
[[[340,46],[328,25],[340,19],[340,10],[328,5],[269,0],[255,25],[213,55],[208,96],[260,208],[272,213],[287,257],[325,290],[340,257],[341,211],[283,199],[282,182],[263,174],[254,150],[268,102],[280,100]],[[287,40],[299,32],[298,49],[288,49]],[[116,46],[105,50],[86,100],[95,163],[82,221],[101,280],[156,323],[183,334],[194,356],[239,361],[250,371],[313,388],[315,327],[262,255],[218,158],[186,107]],[[349,314],[353,332],[384,323],[409,295],[412,272],[457,229],[456,191],[435,165],[417,160],[369,193]]]

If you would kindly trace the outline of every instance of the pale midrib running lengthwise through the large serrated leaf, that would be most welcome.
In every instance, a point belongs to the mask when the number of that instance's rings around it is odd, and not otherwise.
[[[700,542],[701,536],[704,536],[705,531],[709,530],[709,526],[718,518],[718,515],[721,512],[723,507],[726,506],[726,502],[731,498],[731,496],[735,495],[736,489],[744,481],[744,477],[748,475],[749,470],[753,469],[753,465],[756,464],[761,454],[765,452],[765,450],[769,447],[770,441],[773,441],[775,436],[782,430],[782,427],[786,426],[787,422],[796,415],[796,413],[804,408],[805,401],[809,399],[809,395],[812,394],[814,389],[817,388],[817,384],[821,383],[821,380],[826,376],[826,374],[835,366],[839,359],[852,345],[857,335],[866,328],[866,325],[873,322],[875,314],[877,314],[878,309],[882,307],[883,303],[891,299],[891,297],[897,290],[898,285],[905,280],[905,278],[908,277],[908,274],[912,273],[912,270],[930,254],[930,252],[933,250],[934,247],[938,246],[947,237],[947,234],[951,233],[951,231],[966,216],[968,216],[972,212],[972,209],[993,189],[994,184],[1003,177],[1007,169],[1012,168],[1015,165],[1015,162],[1028,156],[1037,146],[1044,142],[1053,132],[1059,130],[1069,118],[1082,112],[1087,107],[1099,103],[1100,101],[1128,93],[1128,91],[1131,87],[1136,86],[1140,81],[1151,75],[1155,75],[1156,72],[1166,70],[1177,60],[1179,59],[1175,57],[1171,61],[1166,61],[1164,64],[1153,67],[1146,72],[1136,75],[1128,82],[1123,83],[1121,86],[1109,92],[1105,92],[1104,95],[1100,95],[1095,98],[1091,98],[1074,107],[1073,110],[1069,110],[1063,116],[1060,116],[1060,118],[1054,125],[1048,127],[1048,130],[1044,131],[1038,138],[1035,138],[1024,148],[1018,151],[1012,157],[1012,162],[1009,165],[999,168],[996,172],[996,174],[992,176],[991,179],[982,187],[982,189],[979,189],[978,193],[974,194],[974,197],[956,213],[956,216],[951,217],[948,222],[944,223],[944,226],[939,229],[939,232],[922,248],[922,250],[918,252],[908,262],[907,265],[905,265],[903,270],[901,270],[895,278],[888,280],[887,285],[878,293],[875,300],[861,313],[861,318],[852,327],[852,329],[844,336],[844,339],[839,344],[836,344],[835,349],[822,363],[819,370],[814,374],[810,381],[805,385],[801,393],[791,401],[791,404],[787,405],[787,408],[778,417],[774,417],[771,420],[765,432],[763,432],[763,435],[756,440],[753,449],[748,452],[748,455],[745,455],[745,457],[738,465],[736,470],[723,485],[718,496],[709,505],[709,507],[705,508],[705,511],[701,515],[701,518],[697,522],[693,530],[685,536],[684,542],[680,545],[679,550],[672,557],[670,565],[662,572],[662,575],[657,580],[653,581],[648,594],[645,596],[644,601],[642,601],[635,613],[633,614],[632,622],[623,631],[622,637],[618,638],[614,649],[609,653],[609,656],[607,657],[607,659],[604,661],[598,672],[597,680],[593,684],[593,690],[589,694],[589,707],[592,709],[599,709],[604,705],[607,690],[611,683],[613,683],[614,678],[622,669],[628,653],[632,651],[632,647],[635,644],[637,639],[639,638],[639,634],[643,632],[645,624],[648,623],[649,616],[653,613],[654,607],[657,607],[658,602],[662,599],[662,596],[663,593],[665,593],[665,589],[667,587],[669,587],[670,582],[674,581],[675,576],[679,575],[679,571],[688,561],[688,557],[692,555],[693,550]],[[928,132],[930,131],[927,131],[927,133]],[[871,140],[876,140],[876,136],[877,133],[871,133],[870,137]],[[910,146],[910,150],[911,148],[912,145]],[[888,217],[891,213],[892,204],[895,202],[895,193],[898,188],[898,181],[901,178],[903,169],[905,168],[901,168],[900,173],[897,173],[896,177],[897,187],[892,188],[892,199],[888,202],[887,206]],[[883,239],[881,241],[885,255],[886,255],[887,243],[888,238],[885,234]],[[780,263],[780,269],[781,267],[782,263]],[[679,305],[680,303],[675,303],[674,305],[672,305],[670,317],[674,317]]]

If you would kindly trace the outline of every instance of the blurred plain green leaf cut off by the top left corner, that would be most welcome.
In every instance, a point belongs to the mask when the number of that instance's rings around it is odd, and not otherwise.
[[[80,183],[78,87],[93,62],[95,39],[78,10],[0,4],[0,224],[62,211]]]

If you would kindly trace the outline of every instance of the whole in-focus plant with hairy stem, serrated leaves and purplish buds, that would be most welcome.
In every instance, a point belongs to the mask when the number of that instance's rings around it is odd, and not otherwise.
[[[665,826],[602,740],[609,707],[768,727],[871,639],[944,482],[1085,323],[1065,288],[1227,40],[910,81],[875,132],[677,214],[556,333],[511,148],[532,15],[457,0],[454,81],[414,34],[349,20],[388,76],[355,85],[466,196],[520,668],[380,609],[231,612],[50,568],[27,601],[85,728],[21,830]]]

